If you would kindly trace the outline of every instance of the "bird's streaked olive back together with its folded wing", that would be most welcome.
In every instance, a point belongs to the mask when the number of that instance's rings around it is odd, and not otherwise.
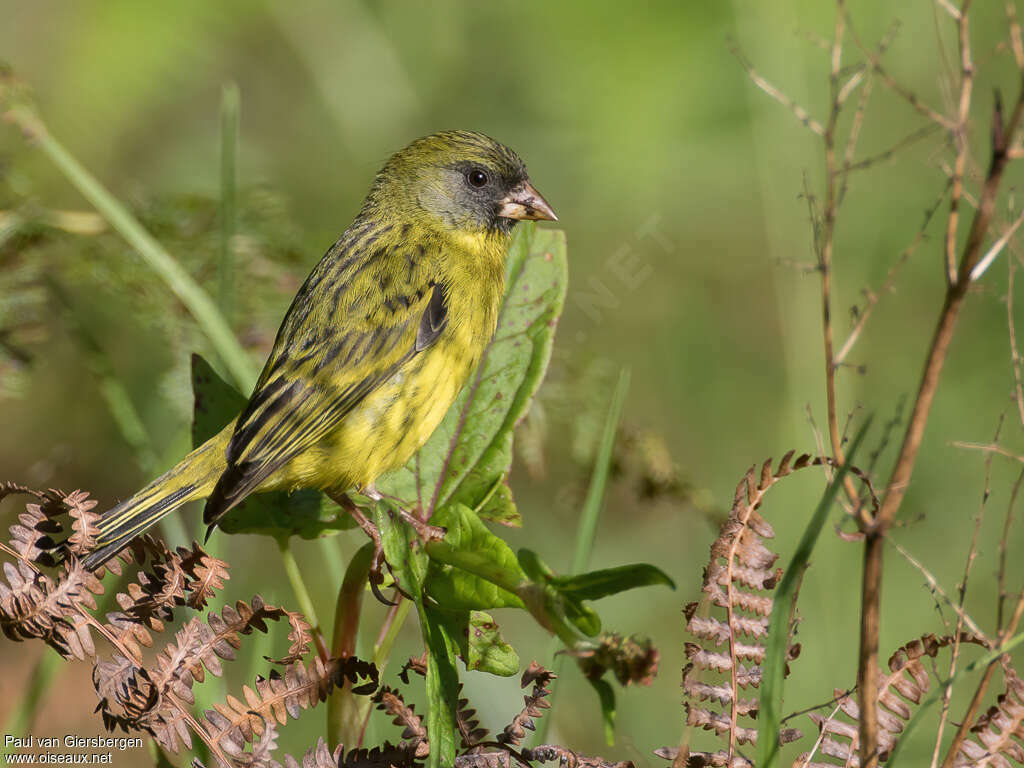
[[[430,265],[386,248],[353,258],[361,241],[379,245],[373,231],[357,234],[328,252],[289,308],[236,423],[227,469],[203,515],[208,524],[326,437],[446,326],[444,291]]]

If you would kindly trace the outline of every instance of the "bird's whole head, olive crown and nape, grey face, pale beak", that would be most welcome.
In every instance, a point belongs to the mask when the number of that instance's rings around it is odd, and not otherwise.
[[[452,232],[507,233],[521,219],[557,220],[519,156],[473,131],[417,139],[381,169],[374,193],[378,203]]]

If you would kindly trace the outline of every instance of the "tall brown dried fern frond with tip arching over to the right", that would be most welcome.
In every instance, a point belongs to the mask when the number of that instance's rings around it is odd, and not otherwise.
[[[690,727],[714,731],[728,744],[722,752],[688,753],[687,765],[750,765],[736,754],[736,745],[757,742],[757,727],[743,725],[743,721],[757,718],[760,702],[757,696],[740,694],[761,684],[766,652],[763,642],[773,605],[769,593],[782,574],[781,568],[774,567],[778,555],[765,546],[765,540],[773,539],[775,531],[758,508],[768,490],[783,477],[806,467],[834,463],[808,454],[794,457],[793,451],[785,454],[774,470],[769,459],[760,470],[751,467],[740,480],[729,516],[711,545],[703,574],[705,598],[684,609],[686,630],[696,639],[685,645],[688,664],[683,670],[682,687],[686,722]],[[853,468],[850,471],[864,482],[877,506],[863,473]],[[724,615],[714,615],[715,609]],[[791,644],[787,662],[799,652],[800,646]],[[788,671],[787,664],[786,674]],[[801,735],[797,730],[784,730],[779,740],[786,743]],[[658,752],[662,757],[670,754],[675,760],[678,750],[666,748]]]

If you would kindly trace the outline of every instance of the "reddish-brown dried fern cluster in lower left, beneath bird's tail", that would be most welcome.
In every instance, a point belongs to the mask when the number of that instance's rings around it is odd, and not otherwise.
[[[94,657],[94,636],[104,639],[114,653],[96,659],[93,683],[97,711],[109,729],[147,732],[170,752],[191,746],[198,735],[220,765],[269,766],[274,722],[284,723],[325,700],[344,680],[357,683],[352,688],[357,694],[376,690],[376,668],[357,658],[316,658],[307,669],[301,658],[310,651],[309,623],[299,613],[266,605],[258,595],[251,603],[211,612],[205,622],[190,618],[154,660],[144,660],[142,648],[154,644],[154,635],[167,630],[179,610],[202,609],[224,586],[227,563],[197,543],[171,551],[159,540],[142,537],[120,560],[90,572],[78,558],[95,545],[95,502],[83,492],[0,485],[0,500],[11,494],[27,494],[32,501],[11,526],[9,544],[0,544],[12,559],[3,564],[0,578],[0,630],[12,640],[42,639],[65,657]],[[94,595],[103,592],[102,577],[120,573],[122,566],[131,567],[133,581],[116,595],[120,610],[106,613],[103,622],[94,615]],[[234,658],[243,636],[266,632],[268,621],[281,620],[290,625],[288,654],[274,660],[285,665],[284,674],[273,672],[257,679],[255,690],[246,688],[247,705],[229,698],[233,709],[208,713],[208,720],[193,715],[193,685],[208,672],[219,676],[222,662]],[[369,754],[351,755],[361,760]]]

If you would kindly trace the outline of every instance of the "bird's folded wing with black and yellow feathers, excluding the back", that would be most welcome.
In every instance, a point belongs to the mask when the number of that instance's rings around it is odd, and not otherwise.
[[[346,307],[347,322],[293,304],[227,449],[227,469],[204,520],[215,522],[338,423],[447,323],[440,285],[381,294]],[[356,318],[355,322],[352,318]],[[289,321],[293,321],[289,323]]]

